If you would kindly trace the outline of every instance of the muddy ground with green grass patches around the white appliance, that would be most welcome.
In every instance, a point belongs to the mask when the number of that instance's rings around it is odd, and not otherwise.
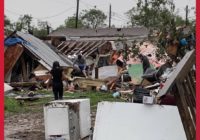
[[[38,91],[39,92],[39,91]],[[42,92],[41,92],[42,93]],[[51,92],[45,95],[52,95]],[[91,107],[91,124],[94,127],[97,104],[101,101],[123,101],[113,98],[112,94],[102,92],[65,93],[65,99],[89,98]],[[52,101],[45,97],[37,101],[16,102],[5,98],[4,138],[5,140],[44,140],[43,105]],[[9,101],[9,102],[8,102]],[[15,108],[17,106],[17,108]]]

